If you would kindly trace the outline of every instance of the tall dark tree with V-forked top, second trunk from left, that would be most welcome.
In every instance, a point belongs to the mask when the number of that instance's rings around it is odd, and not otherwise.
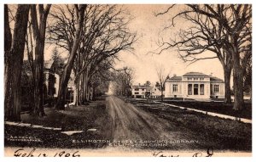
[[[44,116],[44,42],[46,20],[49,14],[50,4],[44,8],[44,4],[31,5],[32,32],[35,41],[35,64],[34,64],[34,115]],[[39,14],[39,16],[38,16]],[[39,20],[38,20],[39,18]]]

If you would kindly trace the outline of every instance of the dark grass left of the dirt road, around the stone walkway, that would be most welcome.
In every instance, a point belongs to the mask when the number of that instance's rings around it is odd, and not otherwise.
[[[44,127],[61,128],[61,130],[47,130],[26,126],[4,126],[4,145],[20,147],[43,147],[43,148],[102,148],[103,144],[83,142],[87,139],[107,139],[101,132],[102,125],[108,121],[105,98],[99,98],[85,106],[70,106],[65,111],[45,109],[46,116],[35,117],[21,115],[23,123]],[[96,131],[88,131],[95,128]],[[71,136],[61,131],[83,131]],[[15,139],[14,140],[11,140]],[[22,141],[22,139],[24,139]],[[17,140],[18,139],[18,140]],[[32,141],[30,141],[32,139]],[[33,141],[39,139],[41,142]],[[77,141],[77,142],[74,142]]]

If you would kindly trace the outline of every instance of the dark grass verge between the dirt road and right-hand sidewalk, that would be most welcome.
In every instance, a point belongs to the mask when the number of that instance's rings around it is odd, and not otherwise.
[[[201,138],[201,145],[219,150],[252,150],[252,125],[225,120],[160,103],[130,100],[138,108],[172,122]]]

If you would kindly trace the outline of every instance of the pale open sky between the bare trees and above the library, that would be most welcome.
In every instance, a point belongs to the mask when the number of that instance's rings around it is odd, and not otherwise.
[[[195,64],[184,63],[180,59],[176,49],[170,49],[161,54],[150,53],[157,48],[157,42],[164,34],[165,39],[173,36],[177,30],[185,27],[188,22],[177,20],[175,27],[171,30],[161,32],[164,26],[170,24],[172,13],[176,13],[182,6],[177,6],[170,14],[155,17],[154,13],[164,11],[168,5],[124,5],[134,20],[131,21],[131,31],[137,31],[138,41],[134,44],[133,53],[123,52],[119,54],[120,62],[116,67],[131,67],[135,70],[134,84],[144,83],[145,81],[158,81],[156,67],[164,66],[166,73],[172,75],[183,75],[189,71],[202,72],[204,74],[217,76],[224,79],[222,65],[218,59],[200,60]]]

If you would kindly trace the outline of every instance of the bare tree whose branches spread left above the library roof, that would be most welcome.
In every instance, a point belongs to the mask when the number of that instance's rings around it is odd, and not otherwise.
[[[161,46],[167,45],[163,49],[177,47],[183,61],[190,62],[190,64],[202,59],[217,58],[224,70],[225,103],[231,103],[230,75],[232,55],[224,49],[224,42],[222,41],[225,37],[224,26],[219,24],[218,20],[196,12],[193,8],[194,5],[188,4],[187,6],[188,8],[184,7],[180,12],[174,14],[172,25],[175,25],[177,17],[181,17],[189,21],[189,27],[183,27],[184,29],[177,32],[176,37],[171,38],[171,42],[162,42]],[[174,7],[173,5],[168,10]],[[221,8],[224,8],[224,5],[220,6]],[[208,51],[208,55],[205,54],[206,51]]]

